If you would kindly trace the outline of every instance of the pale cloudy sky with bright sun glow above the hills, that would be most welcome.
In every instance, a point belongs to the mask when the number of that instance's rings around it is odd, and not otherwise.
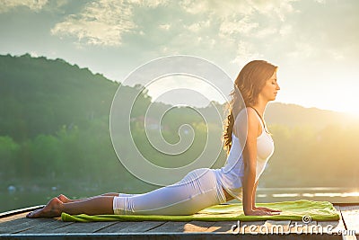
[[[279,67],[276,102],[359,115],[358,9],[357,0],[0,0],[0,54],[62,58],[118,82],[166,56],[206,59],[232,80],[265,59]],[[198,81],[168,80],[149,86],[153,99],[188,84],[220,102]]]

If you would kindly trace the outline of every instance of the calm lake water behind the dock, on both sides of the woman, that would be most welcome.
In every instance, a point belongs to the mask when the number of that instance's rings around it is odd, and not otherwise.
[[[46,204],[62,192],[52,191],[3,191],[0,192],[0,212]],[[78,199],[100,194],[100,191],[66,192],[70,198]],[[258,188],[257,202],[284,200],[328,200],[338,202],[359,202],[359,188]],[[235,201],[235,200],[234,200]]]

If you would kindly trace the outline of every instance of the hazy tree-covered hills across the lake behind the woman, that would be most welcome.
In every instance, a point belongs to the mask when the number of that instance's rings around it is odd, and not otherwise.
[[[129,192],[153,188],[118,164],[113,151],[109,110],[118,86],[62,59],[31,58],[28,54],[0,56],[0,181],[4,186],[32,189],[56,183],[65,190],[92,186],[99,191],[122,188]],[[141,86],[121,87],[126,88],[121,97],[127,102]],[[209,119],[204,122],[196,111],[175,108],[163,117],[163,138],[176,143],[180,125],[188,123],[196,133],[194,144],[182,156],[159,153],[146,140],[141,122],[151,97],[144,91],[137,103],[131,116],[135,120],[131,121],[133,137],[136,147],[155,164],[174,167],[196,159],[206,143],[206,124],[218,137],[215,144],[221,144],[222,126],[214,114],[208,113]],[[168,107],[154,102],[152,117]],[[210,112],[210,108],[202,111]],[[217,108],[223,107],[217,104]],[[334,111],[278,102],[268,106],[266,119],[276,152],[259,186],[356,184],[359,174],[353,166],[359,159],[355,150],[359,140],[357,120]],[[131,159],[131,145],[127,139],[124,144],[128,144],[124,152]],[[224,163],[223,151],[216,160],[214,167]]]

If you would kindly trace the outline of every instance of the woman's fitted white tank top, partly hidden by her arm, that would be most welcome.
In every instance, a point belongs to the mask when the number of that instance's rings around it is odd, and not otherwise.
[[[259,119],[259,116],[258,116]],[[256,182],[259,176],[263,173],[267,161],[273,155],[275,146],[273,139],[267,133],[262,121],[259,119],[262,126],[262,133],[257,138],[257,169]],[[244,163],[242,147],[240,139],[232,133],[232,147],[227,157],[227,161],[220,169],[215,169],[217,181],[223,186],[225,191],[232,195],[237,200],[242,200],[242,178],[244,175]]]

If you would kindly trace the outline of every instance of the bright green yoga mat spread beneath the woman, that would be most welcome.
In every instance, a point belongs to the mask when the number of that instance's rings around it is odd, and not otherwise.
[[[304,216],[313,221],[338,220],[337,209],[328,201],[294,200],[271,203],[258,203],[257,207],[280,209],[280,215],[275,216],[245,216],[241,203],[216,205],[203,209],[196,214],[186,216],[163,215],[69,215],[62,213],[61,219],[69,222],[95,221],[260,221],[260,220],[298,220]]]

